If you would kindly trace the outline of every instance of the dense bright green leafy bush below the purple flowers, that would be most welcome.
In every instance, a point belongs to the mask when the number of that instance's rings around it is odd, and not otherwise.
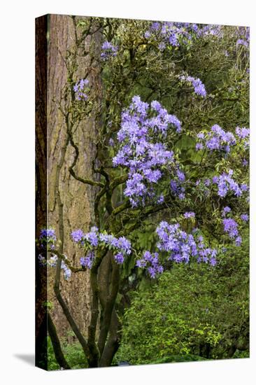
[[[197,263],[173,266],[155,286],[134,293],[115,362],[229,358],[234,351],[248,356],[246,241],[244,247],[239,255],[230,248],[215,269]]]

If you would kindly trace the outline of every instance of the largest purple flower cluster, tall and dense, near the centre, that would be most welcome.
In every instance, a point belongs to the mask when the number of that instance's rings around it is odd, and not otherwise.
[[[180,173],[178,178],[185,179],[176,165],[173,151],[168,151],[162,143],[171,128],[174,128],[174,134],[180,133],[180,121],[167,113],[157,101],[148,104],[142,102],[139,96],[134,96],[129,108],[122,112],[118,132],[120,148],[113,158],[113,165],[129,170],[124,194],[133,207],[144,204],[147,197],[159,198],[155,190],[164,169],[168,169],[169,173]]]

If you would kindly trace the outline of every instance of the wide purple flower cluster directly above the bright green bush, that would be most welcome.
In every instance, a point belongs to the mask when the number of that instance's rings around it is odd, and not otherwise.
[[[178,223],[169,225],[162,221],[157,227],[157,235],[157,248],[169,253],[169,260],[188,263],[190,258],[197,258],[197,262],[210,262],[213,266],[216,264],[215,248],[206,247],[202,236],[187,234]]]

